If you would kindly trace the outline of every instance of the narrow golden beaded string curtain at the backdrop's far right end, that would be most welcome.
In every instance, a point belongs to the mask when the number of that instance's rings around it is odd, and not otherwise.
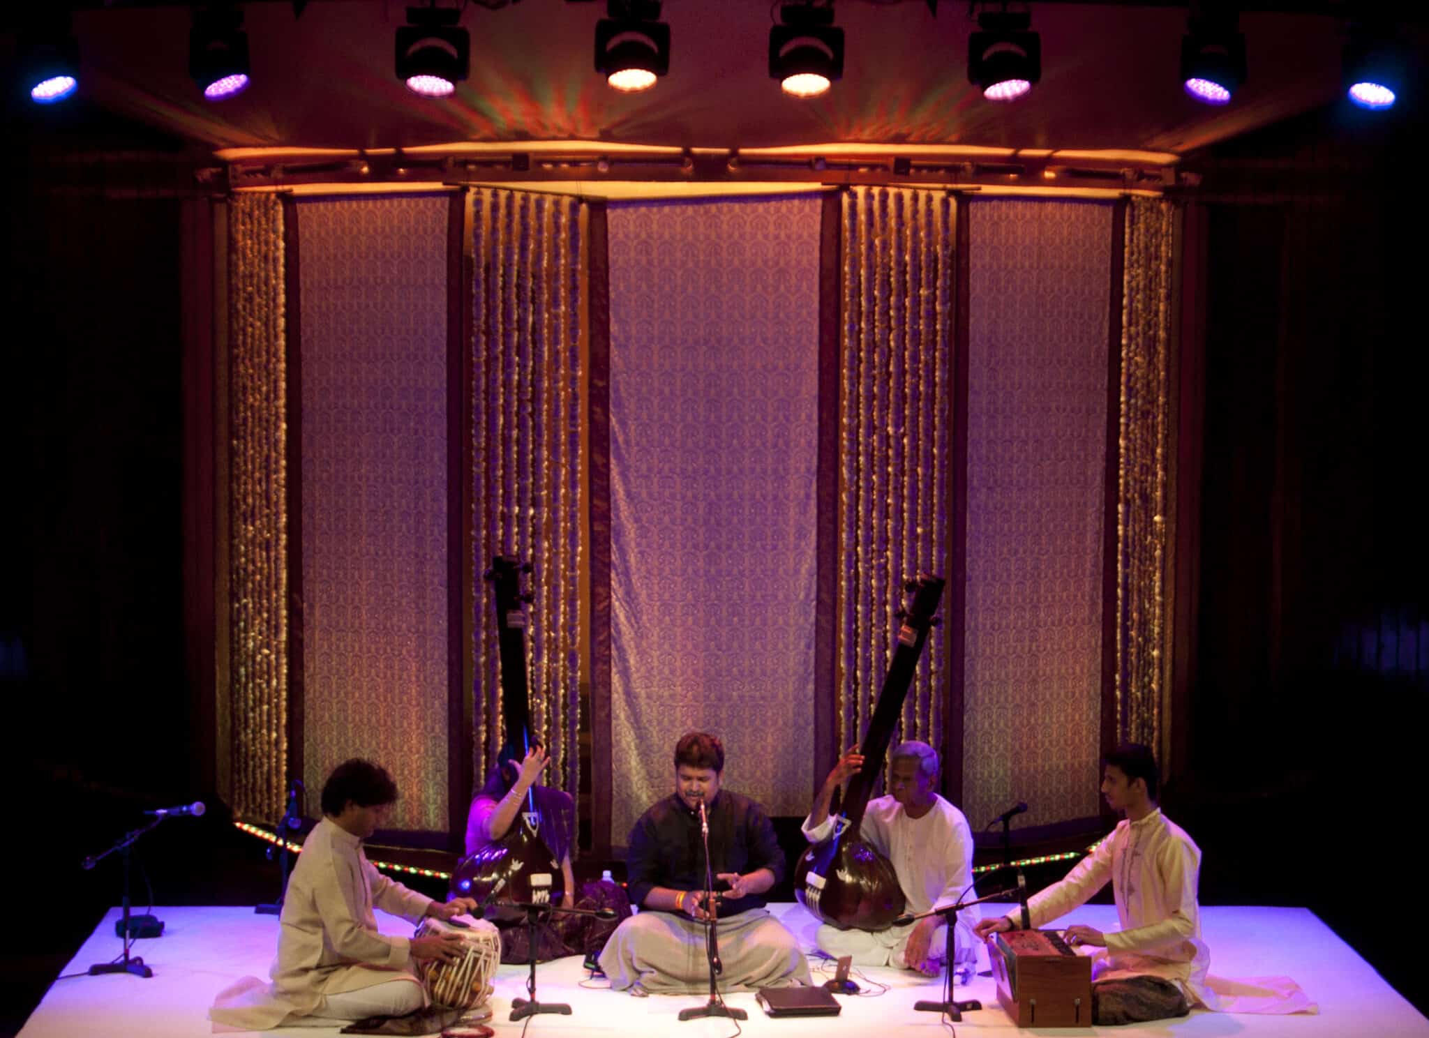
[[[1167,508],[1175,206],[1132,198],[1126,213],[1117,527],[1116,731],[1157,752],[1170,674]]]

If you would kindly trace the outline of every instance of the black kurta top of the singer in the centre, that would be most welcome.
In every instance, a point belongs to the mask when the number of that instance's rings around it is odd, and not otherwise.
[[[777,884],[785,875],[785,852],[775,837],[769,815],[749,797],[720,790],[706,805],[710,824],[710,875],[747,875],[767,868]],[[626,858],[630,904],[644,905],[652,887],[704,890],[704,841],[699,811],[690,811],[677,794],[670,794],[640,815],[630,830]],[[716,882],[716,890],[722,884]],[[763,908],[763,894],[749,894],[720,902],[720,915]]]

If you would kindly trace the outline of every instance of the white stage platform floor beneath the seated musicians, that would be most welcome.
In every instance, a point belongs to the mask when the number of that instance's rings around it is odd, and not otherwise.
[[[770,909],[799,935],[805,948],[813,947],[815,921],[799,905],[779,904]],[[267,977],[277,942],[277,918],[256,915],[252,908],[156,908],[167,925],[164,935],[139,941],[134,952],[153,967],[154,975],[141,979],[130,975],[66,977],[46,992],[44,1001],[20,1031],[21,1038],[76,1038],[77,1035],[120,1035],[139,1038],[199,1038],[211,1034],[204,1015],[213,997],[230,982],[252,974]],[[83,972],[91,962],[107,962],[120,951],[114,937],[119,909],[103,922],[79,949],[66,974]],[[1142,1027],[1086,1028],[1052,1031],[1037,1028],[1030,1034],[1120,1034],[1120,1035],[1203,1035],[1229,1038],[1293,1037],[1343,1038],[1346,1035],[1425,1035],[1429,1019],[1422,1017],[1376,974],[1329,927],[1305,908],[1202,908],[1202,927],[1210,945],[1210,969],[1219,977],[1293,977],[1319,1004],[1318,1015],[1252,1017],[1196,1011],[1190,1017]],[[403,919],[377,912],[384,932],[410,934]],[[1115,927],[1110,905],[1085,905],[1067,917],[1070,922]],[[810,959],[816,974],[820,965]],[[770,1019],[755,1002],[753,992],[729,995],[730,1005],[749,1011],[743,1034],[782,1035],[786,1038],[833,1038],[839,1032],[880,1038],[889,1034],[936,1034],[939,1015],[915,1012],[913,1002],[937,998],[940,982],[922,981],[897,969],[869,969],[873,979],[889,984],[886,994],[840,997],[843,1012],[835,1018]],[[700,997],[653,995],[632,998],[620,992],[580,987],[586,972],[579,958],[542,965],[537,995],[542,1001],[567,1002],[570,1017],[542,1015],[530,1021],[527,1034],[680,1035],[682,1038],[727,1038],[735,1025],[727,1019],[702,1019],[682,1024],[676,1014],[700,1005]],[[526,969],[502,967],[492,998],[497,1035],[514,1035],[522,1024],[507,1022],[512,999],[524,995]],[[990,978],[975,978],[959,988],[957,998],[979,998],[987,1007],[963,1017],[959,1031],[1009,1031],[1012,1022],[997,1005]],[[276,1035],[319,1038],[334,1035],[337,1028],[283,1028]],[[945,1032],[946,1034],[946,1032]]]

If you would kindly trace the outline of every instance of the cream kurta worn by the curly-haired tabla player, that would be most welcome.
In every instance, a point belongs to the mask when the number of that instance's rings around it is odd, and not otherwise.
[[[382,875],[362,841],[323,818],[303,842],[279,918],[273,982],[244,977],[209,1009],[216,1024],[250,1031],[306,1017],[324,995],[357,991],[416,975],[410,941],[377,932],[373,905],[419,922],[432,898]]]

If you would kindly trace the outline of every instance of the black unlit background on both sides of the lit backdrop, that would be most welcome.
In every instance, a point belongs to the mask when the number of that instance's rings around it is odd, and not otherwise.
[[[7,116],[0,1034],[117,904],[117,862],[80,860],[144,807],[213,802],[183,610],[184,148],[83,100]],[[1182,503],[1199,605],[1165,804],[1205,852],[1205,904],[1308,905],[1423,1011],[1416,921],[1393,911],[1418,880],[1429,691],[1422,131],[1335,106],[1187,163],[1209,271],[1203,480]],[[277,891],[221,807],[146,837],[141,862],[140,907],[146,877],[160,904]]]

